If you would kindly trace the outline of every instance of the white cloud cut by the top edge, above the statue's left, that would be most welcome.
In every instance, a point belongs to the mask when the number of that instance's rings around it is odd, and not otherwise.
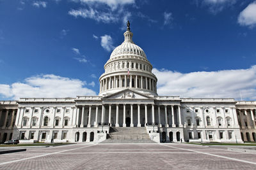
[[[120,8],[122,8],[122,6],[126,5],[126,4],[134,4],[135,0],[79,0],[81,3],[84,4],[89,4],[89,5],[93,5],[93,4],[106,4],[109,6],[109,8],[111,8],[111,10],[116,10],[116,8],[118,8],[118,6],[121,6]]]

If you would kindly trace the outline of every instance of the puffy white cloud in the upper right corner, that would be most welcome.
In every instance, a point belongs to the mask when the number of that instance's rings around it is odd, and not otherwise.
[[[240,25],[255,27],[256,25],[256,1],[249,4],[238,17],[238,23]]]

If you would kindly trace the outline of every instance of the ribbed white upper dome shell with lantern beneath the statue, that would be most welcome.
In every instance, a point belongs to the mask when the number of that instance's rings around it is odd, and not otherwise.
[[[136,55],[147,59],[145,52],[140,48],[140,46],[134,44],[132,41],[132,35],[132,32],[129,30],[124,32],[124,42],[113,50],[110,55],[110,59],[114,59],[115,57],[125,54]]]

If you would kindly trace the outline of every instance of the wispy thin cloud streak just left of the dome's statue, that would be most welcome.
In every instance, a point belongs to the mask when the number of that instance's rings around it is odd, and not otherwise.
[[[68,11],[68,14],[74,17],[80,16],[83,18],[90,18],[90,19],[96,20],[97,22],[104,22],[104,23],[117,22],[118,20],[118,16],[113,15],[111,11],[103,12],[103,11],[93,10],[93,8],[90,8],[90,10],[86,10],[86,9],[70,10]]]

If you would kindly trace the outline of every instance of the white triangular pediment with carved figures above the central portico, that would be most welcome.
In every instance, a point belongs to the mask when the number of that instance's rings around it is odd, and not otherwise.
[[[154,97],[136,92],[135,90],[125,89],[120,92],[104,96],[102,99],[154,99]]]

